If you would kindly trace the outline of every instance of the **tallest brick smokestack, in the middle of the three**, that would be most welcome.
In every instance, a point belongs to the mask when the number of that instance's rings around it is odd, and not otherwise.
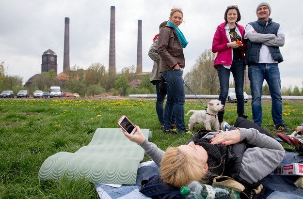
[[[115,74],[116,74],[115,6],[111,6],[110,58],[109,58],[110,79],[113,79]]]

